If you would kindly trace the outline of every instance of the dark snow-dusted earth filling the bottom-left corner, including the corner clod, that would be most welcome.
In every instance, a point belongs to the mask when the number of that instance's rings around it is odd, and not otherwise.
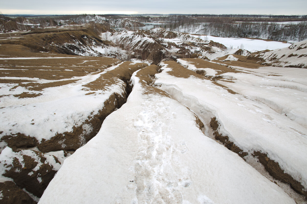
[[[2,175],[14,182],[0,183],[0,189],[2,188],[2,195],[7,197],[5,199],[14,200],[11,203],[36,203],[21,189],[38,198],[41,197],[64,158],[70,155],[66,151],[60,151],[56,153],[56,157],[35,150],[17,150],[10,147],[3,151],[5,155],[0,159],[0,168],[5,169],[5,173]]]

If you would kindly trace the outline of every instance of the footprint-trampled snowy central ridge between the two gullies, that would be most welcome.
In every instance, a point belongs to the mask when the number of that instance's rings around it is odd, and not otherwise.
[[[160,84],[164,77],[181,82],[165,73],[170,68],[163,69],[157,74]],[[127,102],[64,161],[40,204],[295,203],[237,154],[205,136],[195,115],[148,86],[142,70],[131,78]]]

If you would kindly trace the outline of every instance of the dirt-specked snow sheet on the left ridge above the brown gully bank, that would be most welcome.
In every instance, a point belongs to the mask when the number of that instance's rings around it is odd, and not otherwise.
[[[84,86],[87,83],[95,81],[104,73],[115,69],[114,65],[103,72],[92,73],[81,77],[72,77],[64,80],[77,80],[75,83],[69,83],[58,87],[48,87],[42,91],[32,91],[30,93],[41,93],[42,95],[34,98],[16,98],[13,94],[29,92],[24,87],[17,87],[14,93],[10,88],[16,84],[3,84],[1,87],[2,97],[0,101],[2,117],[0,124],[6,124],[1,128],[3,135],[22,133],[41,139],[50,139],[57,133],[72,132],[74,126],[80,126],[88,117],[98,114],[102,109],[104,101],[111,94],[118,93],[122,95],[125,90],[125,83],[118,80],[118,83],[105,87],[105,90],[85,91]],[[40,83],[64,81],[64,80],[40,80],[28,77],[2,77],[10,79],[37,80]],[[1,79],[2,79],[1,78]],[[85,95],[87,93],[95,93]],[[68,108],[69,107],[69,108]],[[44,128],[41,128],[44,127]],[[84,127],[89,129],[90,127]]]

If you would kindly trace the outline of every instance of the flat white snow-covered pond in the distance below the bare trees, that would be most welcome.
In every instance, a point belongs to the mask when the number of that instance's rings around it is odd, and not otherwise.
[[[258,39],[247,39],[247,38],[222,38],[214,37],[210,35],[191,35],[195,38],[208,39],[217,43],[225,45],[228,49],[241,48],[250,52],[262,51],[262,50],[275,50],[279,48],[289,47],[291,43],[282,43],[278,41],[265,41]]]

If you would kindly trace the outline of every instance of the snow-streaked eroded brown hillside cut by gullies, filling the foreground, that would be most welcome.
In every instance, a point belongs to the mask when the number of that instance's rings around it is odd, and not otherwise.
[[[304,41],[95,20],[0,34],[2,201],[305,203]]]

